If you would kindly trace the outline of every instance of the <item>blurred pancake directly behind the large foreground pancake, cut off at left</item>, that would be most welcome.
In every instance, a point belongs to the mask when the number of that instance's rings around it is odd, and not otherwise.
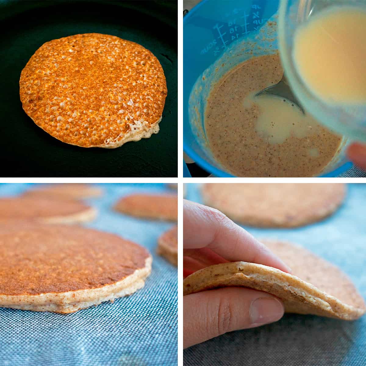
[[[43,223],[83,223],[93,220],[97,210],[83,202],[56,197],[0,198],[0,219],[37,220]]]

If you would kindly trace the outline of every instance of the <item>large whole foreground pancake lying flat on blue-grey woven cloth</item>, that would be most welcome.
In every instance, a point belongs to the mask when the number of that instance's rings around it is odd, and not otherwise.
[[[117,235],[0,220],[0,306],[73,313],[142,288],[152,258]]]

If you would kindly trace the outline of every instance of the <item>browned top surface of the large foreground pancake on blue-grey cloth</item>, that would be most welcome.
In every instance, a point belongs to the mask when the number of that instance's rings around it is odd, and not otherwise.
[[[0,243],[0,295],[100,288],[145,268],[150,257],[117,235],[26,221],[0,221]]]

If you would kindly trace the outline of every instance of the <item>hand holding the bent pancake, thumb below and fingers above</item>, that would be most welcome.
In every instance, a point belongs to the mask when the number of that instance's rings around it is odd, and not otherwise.
[[[223,213],[183,202],[183,275],[225,262],[254,262],[290,272],[279,258]],[[183,347],[232,330],[279,320],[282,302],[266,292],[227,287],[183,296]]]

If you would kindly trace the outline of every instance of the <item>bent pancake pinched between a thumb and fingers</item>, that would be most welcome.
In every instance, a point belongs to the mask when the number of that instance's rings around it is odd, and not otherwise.
[[[339,268],[290,243],[263,240],[292,269],[292,275],[261,264],[234,262],[203,268],[183,281],[183,294],[217,287],[244,286],[280,298],[287,313],[354,320],[365,301]]]

